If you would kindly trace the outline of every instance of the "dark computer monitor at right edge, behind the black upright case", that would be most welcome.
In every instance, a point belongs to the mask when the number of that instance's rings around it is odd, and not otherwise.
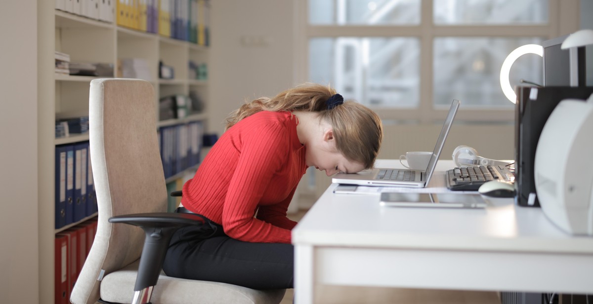
[[[568,35],[556,37],[543,41],[541,46],[544,48],[544,86],[572,86],[585,87],[586,85],[586,60],[585,47],[578,47],[574,50],[576,62],[574,68],[571,68],[570,50],[563,50],[563,41]],[[573,82],[571,82],[573,79]]]

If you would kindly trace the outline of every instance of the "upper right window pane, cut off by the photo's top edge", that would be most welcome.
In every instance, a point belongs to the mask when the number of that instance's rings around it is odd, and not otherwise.
[[[435,24],[544,24],[549,0],[434,0]]]

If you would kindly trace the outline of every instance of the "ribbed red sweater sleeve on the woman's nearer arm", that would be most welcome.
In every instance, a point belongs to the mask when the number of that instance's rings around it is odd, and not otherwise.
[[[222,226],[231,238],[291,242],[289,229],[254,218],[254,210],[270,180],[286,162],[291,146],[286,133],[286,126],[281,123],[258,124],[241,133],[241,154],[222,209]]]

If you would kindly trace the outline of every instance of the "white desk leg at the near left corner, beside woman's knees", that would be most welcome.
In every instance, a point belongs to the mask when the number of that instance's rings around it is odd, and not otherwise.
[[[295,245],[295,303],[313,303],[314,279],[313,246]]]

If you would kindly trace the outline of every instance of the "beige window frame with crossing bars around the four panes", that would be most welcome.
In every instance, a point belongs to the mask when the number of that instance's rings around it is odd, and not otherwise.
[[[420,43],[419,106],[376,108],[381,119],[393,123],[442,122],[448,107],[433,105],[433,41],[436,37],[541,37],[543,40],[570,34],[579,29],[579,0],[549,0],[549,20],[541,25],[436,25],[433,23],[433,1],[419,0],[419,25],[311,25],[308,2],[293,0],[295,9],[295,79],[308,81],[309,39],[315,37],[416,37]],[[427,21],[428,20],[428,21]],[[498,83],[496,84],[498,85]],[[463,100],[461,101],[463,105]],[[460,107],[455,118],[469,123],[512,123],[514,108]]]

